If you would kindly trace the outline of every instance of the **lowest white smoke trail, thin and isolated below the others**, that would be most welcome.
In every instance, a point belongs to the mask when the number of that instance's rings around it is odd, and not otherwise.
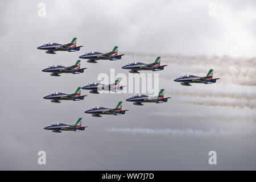
[[[114,133],[128,133],[128,134],[145,134],[145,135],[166,135],[171,137],[221,137],[225,135],[234,135],[234,133],[214,130],[192,130],[192,129],[148,129],[148,128],[110,128],[106,131]]]

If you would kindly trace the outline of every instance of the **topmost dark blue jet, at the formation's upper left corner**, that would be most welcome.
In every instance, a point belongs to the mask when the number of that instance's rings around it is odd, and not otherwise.
[[[46,50],[46,53],[55,54],[56,51],[68,51],[68,52],[79,51],[80,47],[82,46],[76,46],[76,38],[73,38],[71,43],[68,43],[68,44],[48,43],[48,44],[44,44],[43,46],[39,46],[38,49]]]

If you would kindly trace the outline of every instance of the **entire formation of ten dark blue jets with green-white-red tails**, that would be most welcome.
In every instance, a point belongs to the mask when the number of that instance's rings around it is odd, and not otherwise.
[[[79,51],[82,46],[76,46],[77,38],[73,38],[71,43],[68,44],[57,44],[57,43],[48,43],[43,46],[38,47],[38,49],[46,50],[46,53],[55,54],[56,51],[67,51],[67,52],[75,52]],[[80,59],[88,59],[88,63],[97,63],[97,60],[119,60],[122,58],[124,54],[118,55],[118,46],[115,46],[111,52],[101,53],[101,52],[89,52],[84,55],[79,56]],[[130,69],[130,73],[139,73],[139,71],[162,71],[164,67],[167,65],[160,65],[161,57],[156,57],[154,63],[146,64],[141,62],[133,62],[127,65],[124,65],[123,69]],[[52,67],[48,67],[43,69],[43,72],[51,73],[51,76],[60,76],[62,73],[72,73],[79,74],[84,73],[86,68],[80,68],[81,60],[77,60],[75,65],[71,65],[69,67],[64,67],[61,65],[53,65]],[[193,75],[185,75],[179,78],[176,78],[174,81],[180,82],[181,85],[191,86],[191,84],[203,83],[203,84],[212,84],[215,83],[220,78],[213,78],[213,69],[207,73],[207,76],[193,76]],[[80,101],[84,100],[84,97],[87,95],[81,96],[81,89],[90,90],[90,93],[99,94],[100,91],[111,91],[118,92],[123,90],[123,85],[120,84],[121,78],[117,78],[113,84],[101,84],[101,83],[92,83],[82,88],[79,87],[76,89],[75,93],[65,94],[65,93],[52,93],[48,96],[43,97],[46,100],[51,100],[54,103],[60,103],[63,100],[71,100],[71,101]],[[164,89],[161,89],[157,96],[147,96],[145,94],[137,94],[130,98],[127,98],[127,102],[133,102],[134,105],[142,106],[143,103],[164,103],[167,102],[171,97],[164,97]],[[92,114],[93,117],[102,117],[102,115],[123,115],[128,110],[122,110],[122,101],[118,102],[118,105],[109,109],[106,107],[92,107],[89,110],[84,111],[86,114]],[[84,131],[85,127],[82,126],[81,119],[74,125],[67,125],[64,123],[52,123],[51,125],[44,127],[45,130],[52,130],[54,133],[61,133],[61,131]]]

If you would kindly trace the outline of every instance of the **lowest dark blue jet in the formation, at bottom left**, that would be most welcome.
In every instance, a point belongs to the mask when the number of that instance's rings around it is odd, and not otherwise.
[[[52,130],[54,133],[62,133],[61,131],[84,131],[88,126],[82,126],[82,118],[79,118],[75,125],[67,125],[63,123],[52,123],[51,125],[44,127],[44,130]]]

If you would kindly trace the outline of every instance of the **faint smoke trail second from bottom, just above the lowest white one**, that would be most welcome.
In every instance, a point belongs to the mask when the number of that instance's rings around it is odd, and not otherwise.
[[[200,119],[200,120],[218,120],[218,121],[253,121],[256,122],[256,115],[234,115],[234,114],[225,114],[225,115],[220,115],[220,114],[214,114],[214,115],[209,115],[209,114],[200,114],[200,113],[180,113],[180,112],[166,112],[166,111],[151,111],[148,113],[150,116],[154,117],[167,117],[167,118],[189,118],[189,119]]]

